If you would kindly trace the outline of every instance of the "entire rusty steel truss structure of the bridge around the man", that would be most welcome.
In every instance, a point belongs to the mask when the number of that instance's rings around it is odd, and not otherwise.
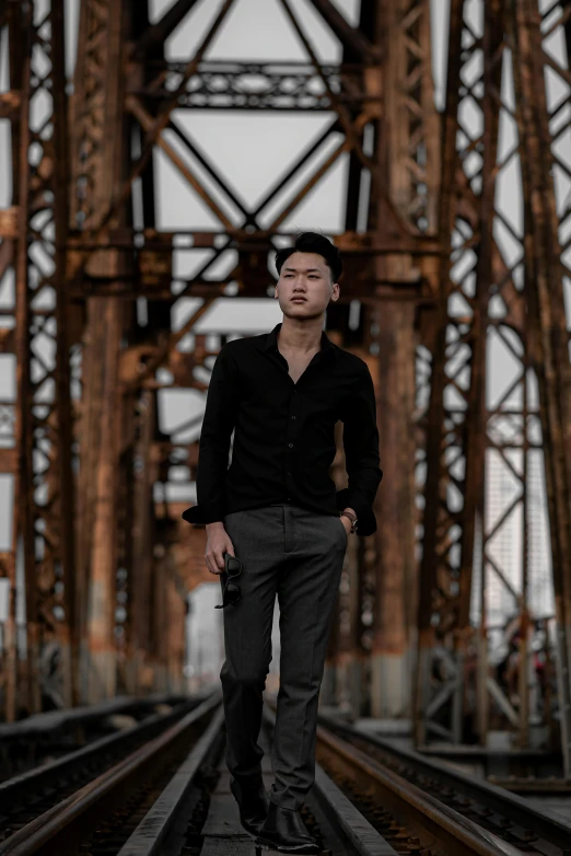
[[[164,433],[160,396],[206,393],[231,334],[197,325],[221,297],[268,296],[268,256],[291,236],[290,217],[341,166],[334,238],[346,270],[327,329],[370,366],[385,478],[377,532],[348,548],[327,701],[411,716],[420,744],[468,732],[486,743],[493,726],[524,747],[532,714],[557,741],[549,686],[538,707],[524,668],[549,571],[569,772],[571,209],[557,184],[571,175],[569,4],[451,0],[440,114],[428,0],[362,0],[356,25],[312,0],[336,62],[279,0],[303,59],[210,58],[238,5],[220,0],[194,53],[173,58],[168,39],[194,0],[153,23],[147,0],[81,0],[66,86],[63,0],[0,4],[12,164],[0,288],[14,284],[0,355],[15,366],[0,401],[12,497],[2,716],[180,687],[203,532],[185,569],[171,490],[194,481],[199,421]],[[248,205],[177,122],[197,107],[229,122],[234,111],[329,116]],[[208,210],[203,228],[159,228],[159,157]],[[506,200],[508,181],[521,205]],[[191,275],[183,250],[200,258]],[[187,297],[200,300],[175,323]],[[331,475],[342,486],[341,448]],[[493,598],[517,640],[510,685],[490,662]]]

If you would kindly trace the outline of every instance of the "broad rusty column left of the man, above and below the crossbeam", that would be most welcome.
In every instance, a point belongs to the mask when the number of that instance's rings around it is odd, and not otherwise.
[[[125,3],[85,0],[81,7],[73,99],[75,224],[96,232],[124,180],[129,150],[124,112]],[[112,224],[125,221],[121,209]],[[123,271],[117,252],[92,254],[86,271]],[[83,348],[80,438],[79,556],[83,623],[82,698],[109,697],[116,685],[114,637],[117,497],[121,440],[118,361],[124,302],[89,297]]]

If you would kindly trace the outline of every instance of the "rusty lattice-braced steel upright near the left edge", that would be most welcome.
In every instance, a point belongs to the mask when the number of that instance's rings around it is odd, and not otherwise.
[[[69,175],[62,3],[54,0],[43,18],[35,20],[33,15],[32,5],[9,7],[10,73],[21,95],[12,134],[19,218],[14,256],[18,464],[12,541],[15,555],[21,540],[25,577],[26,675],[19,707],[28,712],[39,710],[42,694],[51,695],[56,704],[69,705],[75,698],[70,600],[73,591],[72,415],[69,323],[62,289]],[[49,61],[44,63],[48,55]],[[38,94],[47,99],[51,111],[42,118],[34,107]],[[4,261],[10,263],[10,256]],[[49,350],[46,352],[46,345],[54,346],[55,356]],[[42,650],[48,644],[58,645],[60,650],[56,682],[40,664]],[[10,681],[13,690],[14,678]],[[8,699],[12,712],[14,704],[12,692]]]

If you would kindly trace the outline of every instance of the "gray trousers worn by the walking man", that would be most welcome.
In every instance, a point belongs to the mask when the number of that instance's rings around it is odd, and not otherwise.
[[[226,765],[238,786],[261,775],[261,694],[278,595],[280,689],[269,798],[299,809],[315,779],[317,703],[347,531],[337,516],[286,504],[226,514],[224,527],[243,563],[242,599],[223,610]]]

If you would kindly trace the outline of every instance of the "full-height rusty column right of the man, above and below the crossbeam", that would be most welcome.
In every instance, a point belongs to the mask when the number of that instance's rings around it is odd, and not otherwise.
[[[376,35],[385,51],[383,115],[376,123],[378,174],[372,183],[371,225],[391,245],[406,224],[410,238],[435,230],[439,129],[433,104],[430,8],[424,0],[377,3]],[[380,183],[401,216],[395,222]],[[377,281],[415,281],[411,256],[378,256]],[[377,423],[385,472],[378,491],[372,712],[410,715],[416,590],[415,556],[415,301],[384,299],[373,310],[371,335],[380,375]],[[395,453],[395,449],[398,450]]]

